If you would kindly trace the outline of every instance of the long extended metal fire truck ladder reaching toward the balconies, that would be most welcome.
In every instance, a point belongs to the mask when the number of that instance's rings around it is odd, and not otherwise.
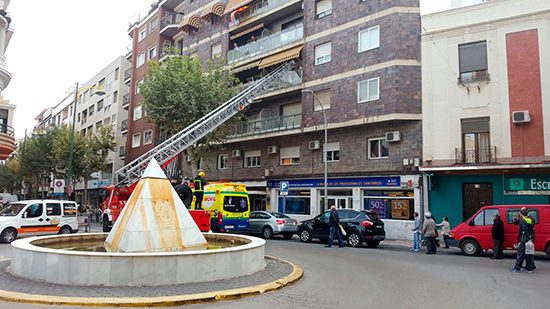
[[[275,71],[264,76],[187,128],[174,134],[155,148],[120,168],[116,171],[118,185],[128,186],[137,182],[151,158],[155,158],[160,165],[163,165],[187,149],[187,147],[214,131],[225,121],[252,103],[255,97],[269,90],[269,86],[289,72],[294,64],[294,61],[290,61],[281,65]]]

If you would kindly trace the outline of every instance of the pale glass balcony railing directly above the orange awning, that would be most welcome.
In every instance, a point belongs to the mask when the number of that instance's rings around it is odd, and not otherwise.
[[[251,58],[279,47],[297,42],[304,37],[304,26],[299,25],[272,35],[260,38],[254,42],[237,47],[227,53],[227,62],[234,63],[244,58]]]

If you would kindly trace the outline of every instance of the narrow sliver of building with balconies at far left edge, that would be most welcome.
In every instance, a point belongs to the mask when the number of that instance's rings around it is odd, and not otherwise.
[[[11,74],[6,70],[6,49],[10,44],[13,29],[10,28],[11,17],[7,13],[9,1],[0,1],[0,160],[7,159],[15,150],[13,131],[13,112],[15,105],[4,99],[2,91],[8,87]]]

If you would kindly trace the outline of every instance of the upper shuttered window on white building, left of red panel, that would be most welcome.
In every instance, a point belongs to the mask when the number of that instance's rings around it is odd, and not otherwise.
[[[487,80],[487,41],[458,45],[460,82]]]

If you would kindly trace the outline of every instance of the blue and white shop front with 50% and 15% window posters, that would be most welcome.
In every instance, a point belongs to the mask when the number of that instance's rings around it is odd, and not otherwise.
[[[281,195],[280,182],[289,184]],[[411,239],[414,211],[420,209],[418,175],[329,178],[327,203],[323,179],[282,179],[267,181],[271,210],[297,220],[313,218],[330,206],[372,210],[383,219],[388,239]]]

